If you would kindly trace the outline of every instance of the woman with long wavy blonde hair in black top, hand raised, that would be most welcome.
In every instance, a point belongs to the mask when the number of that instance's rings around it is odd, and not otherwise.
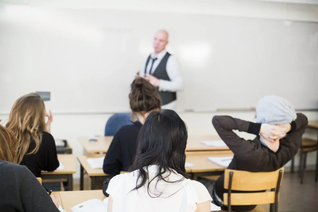
[[[59,167],[55,141],[50,134],[52,121],[53,115],[51,111],[50,115],[45,112],[41,97],[29,93],[14,103],[6,124],[18,140],[17,162],[36,177],[41,177],[41,170],[54,171]]]

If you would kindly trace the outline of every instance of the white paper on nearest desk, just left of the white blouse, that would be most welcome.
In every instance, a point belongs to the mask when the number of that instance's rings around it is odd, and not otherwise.
[[[71,210],[73,212],[107,212],[107,204],[99,199],[91,199],[75,205]]]

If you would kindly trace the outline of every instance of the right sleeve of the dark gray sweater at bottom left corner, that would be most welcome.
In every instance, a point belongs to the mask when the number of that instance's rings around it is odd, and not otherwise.
[[[17,188],[25,212],[59,212],[38,179],[25,166],[15,168]]]

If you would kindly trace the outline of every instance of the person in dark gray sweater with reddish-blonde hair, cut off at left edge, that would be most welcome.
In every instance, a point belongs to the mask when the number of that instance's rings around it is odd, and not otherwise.
[[[18,146],[15,135],[0,125],[0,211],[65,212],[30,170],[16,164]]]

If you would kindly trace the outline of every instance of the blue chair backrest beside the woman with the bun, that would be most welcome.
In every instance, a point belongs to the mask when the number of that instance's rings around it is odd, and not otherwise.
[[[106,123],[105,136],[114,136],[122,126],[129,124],[132,124],[130,113],[115,113]]]

